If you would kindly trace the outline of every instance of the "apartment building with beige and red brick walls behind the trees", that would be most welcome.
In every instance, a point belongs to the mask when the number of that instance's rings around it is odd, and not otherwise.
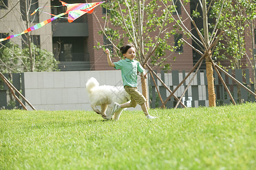
[[[82,0],[64,0],[67,3],[81,3]],[[5,37],[7,35],[15,35],[27,29],[26,22],[21,14],[24,13],[26,2],[31,2],[30,10],[28,13],[32,13],[36,8],[41,6],[60,6],[61,3],[58,0],[43,1],[43,0],[3,0],[0,4],[0,36]],[[88,1],[97,2],[97,1]],[[28,6],[28,5],[27,5]],[[185,7],[190,11],[195,10],[197,1],[192,0]],[[179,6],[177,6],[179,8]],[[45,12],[51,14],[60,14],[65,11],[65,7],[46,7],[42,9]],[[180,8],[181,18],[187,18],[185,12]],[[189,12],[190,12],[189,11]],[[104,8],[98,6],[95,8],[93,14],[85,14],[73,23],[68,23],[67,19],[57,19],[52,23],[45,25],[40,29],[30,32],[32,35],[32,41],[36,45],[40,45],[40,48],[46,49],[55,54],[55,58],[60,61],[60,70],[62,71],[75,71],[75,70],[113,70],[108,66],[105,53],[103,49],[97,50],[94,46],[97,46],[97,42],[104,44],[104,36],[98,35],[100,31],[100,25],[97,21],[105,15]],[[97,17],[96,17],[97,16]],[[44,14],[43,12],[37,12],[36,15],[30,17],[30,23],[28,27],[35,25],[38,22],[51,18],[51,15]],[[195,20],[199,28],[203,28],[201,20]],[[185,22],[185,25],[191,27],[189,20]],[[255,30],[255,29],[254,29]],[[183,36],[183,35],[181,35]],[[183,36],[185,37],[185,36]],[[20,47],[24,45],[26,37],[18,36],[13,41]],[[5,42],[8,42],[5,41]],[[3,42],[3,43],[5,43]],[[188,40],[190,44],[193,44],[191,40]],[[171,37],[170,43],[175,44],[175,37]],[[251,49],[251,38],[246,36],[246,48]],[[172,44],[172,45],[173,45]],[[255,48],[255,46],[254,46]],[[174,61],[174,57],[176,57]],[[170,57],[167,62],[171,63],[172,70],[191,70],[196,61],[200,58],[199,54],[192,50],[187,44],[184,44],[181,53],[175,53],[173,57]],[[251,58],[251,56],[249,56]],[[117,61],[118,58],[114,58]],[[248,59],[245,58],[245,63],[248,63]],[[249,66],[248,66],[249,67]],[[204,68],[204,64],[202,66]]]

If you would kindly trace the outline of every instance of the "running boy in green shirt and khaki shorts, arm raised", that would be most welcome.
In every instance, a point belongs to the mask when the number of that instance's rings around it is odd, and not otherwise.
[[[120,48],[125,59],[121,59],[118,62],[112,62],[110,58],[109,49],[105,50],[105,53],[108,57],[109,66],[114,67],[115,69],[121,69],[123,86],[125,87],[125,91],[131,96],[131,101],[124,104],[115,103],[112,114],[115,113],[118,109],[121,108],[130,108],[136,107],[137,104],[141,105],[142,111],[144,112],[147,118],[157,118],[154,116],[150,116],[146,107],[146,98],[138,91],[137,84],[137,71],[139,73],[143,73],[144,78],[147,78],[147,74],[144,73],[144,69],[141,64],[134,60],[135,58],[135,48],[133,44],[126,44]]]

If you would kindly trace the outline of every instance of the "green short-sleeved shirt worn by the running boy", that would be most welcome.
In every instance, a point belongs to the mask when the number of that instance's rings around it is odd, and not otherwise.
[[[141,63],[136,60],[128,58],[121,59],[118,62],[114,62],[115,69],[121,69],[123,86],[137,87],[137,71],[142,73],[144,71]]]

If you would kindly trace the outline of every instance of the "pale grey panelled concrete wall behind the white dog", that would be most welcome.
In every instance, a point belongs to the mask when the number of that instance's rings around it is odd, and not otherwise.
[[[122,86],[120,70],[24,73],[25,97],[37,110],[90,111],[92,109],[85,84],[92,76],[100,85]],[[138,85],[142,92],[140,78]],[[26,107],[32,110],[27,104]],[[137,106],[135,109],[141,108]]]

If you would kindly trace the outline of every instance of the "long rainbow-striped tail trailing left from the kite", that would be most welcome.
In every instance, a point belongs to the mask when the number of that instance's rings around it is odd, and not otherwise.
[[[9,39],[11,39],[11,38],[13,38],[13,37],[16,37],[16,36],[19,36],[19,35],[23,35],[24,33],[27,33],[27,32],[33,31],[33,30],[35,30],[35,29],[41,28],[41,27],[43,27],[44,25],[46,25],[46,24],[52,22],[53,20],[55,20],[55,19],[57,19],[57,18],[60,18],[60,16],[63,16],[63,15],[66,15],[66,14],[67,14],[67,12],[64,12],[64,13],[61,13],[61,14],[59,14],[59,15],[56,15],[56,16],[52,17],[51,19],[47,19],[47,20],[45,20],[45,21],[43,21],[43,22],[41,22],[41,23],[39,23],[39,24],[36,24],[36,25],[34,25],[34,26],[32,26],[32,27],[26,29],[26,30],[23,31],[22,33],[19,33],[19,34],[16,34],[16,35],[11,35],[11,36],[9,36],[9,37],[6,37],[5,39],[0,39],[0,42],[1,42],[1,41],[5,41],[5,40],[9,40]]]

